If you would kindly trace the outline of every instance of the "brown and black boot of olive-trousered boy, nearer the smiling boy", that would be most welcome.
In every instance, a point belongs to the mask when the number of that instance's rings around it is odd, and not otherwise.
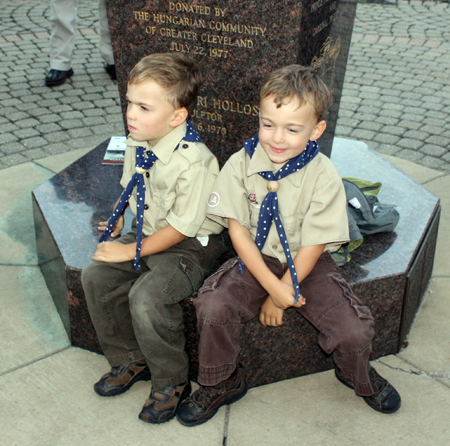
[[[189,381],[160,390],[152,388],[139,418],[146,423],[165,423],[175,416],[178,406],[190,393],[191,383]]]

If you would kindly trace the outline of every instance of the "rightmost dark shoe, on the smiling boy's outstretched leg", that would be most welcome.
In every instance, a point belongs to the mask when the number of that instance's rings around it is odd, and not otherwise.
[[[353,385],[344,378],[340,371],[335,369],[336,378],[347,387],[353,389]],[[398,392],[389,382],[380,376],[377,371],[370,367],[369,379],[372,385],[377,389],[377,392],[371,396],[363,396],[364,401],[374,410],[381,413],[394,413],[402,404],[402,400]]]

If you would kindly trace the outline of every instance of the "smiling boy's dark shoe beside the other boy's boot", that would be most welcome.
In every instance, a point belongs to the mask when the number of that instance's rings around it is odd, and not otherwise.
[[[197,426],[211,419],[220,407],[240,400],[247,393],[247,383],[239,368],[225,381],[215,385],[200,386],[178,409],[177,419],[185,426]]]

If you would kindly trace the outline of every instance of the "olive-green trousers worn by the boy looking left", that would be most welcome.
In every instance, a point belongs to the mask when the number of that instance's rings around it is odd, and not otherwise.
[[[136,241],[130,232],[119,240]],[[180,301],[201,286],[215,260],[225,251],[222,236],[204,247],[186,238],[168,250],[133,261],[91,262],[82,272],[89,313],[111,366],[145,359],[152,385],[161,389],[188,377]]]

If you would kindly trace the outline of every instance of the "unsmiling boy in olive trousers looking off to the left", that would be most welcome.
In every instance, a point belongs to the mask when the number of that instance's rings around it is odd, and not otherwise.
[[[201,67],[179,53],[144,57],[127,89],[125,188],[91,262],[82,273],[89,312],[111,371],[94,385],[101,396],[152,379],[139,418],[163,423],[190,393],[180,301],[195,292],[225,251],[222,227],[206,218],[219,172],[214,155],[187,121]],[[136,215],[132,232],[123,210]]]

